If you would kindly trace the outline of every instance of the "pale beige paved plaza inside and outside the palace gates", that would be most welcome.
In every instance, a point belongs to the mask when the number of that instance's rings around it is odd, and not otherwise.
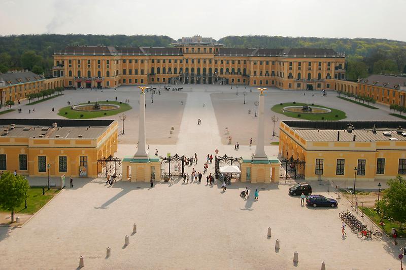
[[[242,89],[241,89],[242,88]],[[246,103],[229,86],[184,87],[182,92],[147,94],[147,144],[150,153],[159,155],[198,155],[198,164],[188,166],[202,171],[208,153],[250,156],[255,151],[256,121],[252,112],[257,90],[248,92]],[[240,92],[241,91],[241,92]],[[312,96],[314,94],[314,96]],[[106,89],[103,93],[89,90],[67,90],[64,95],[35,106],[35,113],[7,113],[2,118],[61,118],[50,113],[70,100],[72,104],[87,100],[130,99],[132,110],[127,111],[125,135],[119,136],[116,156],[133,155],[138,140],[138,97],[135,87]],[[265,151],[269,157],[278,155],[278,146],[269,145],[272,122],[276,114],[270,107],[280,102],[308,102],[344,110],[350,120],[398,120],[389,109],[368,109],[335,97],[328,92],[279,91],[266,93]],[[183,103],[183,104],[182,104]],[[205,104],[205,106],[203,106]],[[251,109],[251,114],[248,114]],[[280,120],[288,119],[276,114]],[[118,115],[109,117],[118,119]],[[197,125],[201,119],[201,125]],[[119,130],[122,122],[119,122]],[[176,133],[170,134],[174,127]],[[231,145],[224,143],[224,128],[230,129]],[[277,123],[277,130],[279,123]],[[152,132],[151,132],[152,130]],[[270,135],[269,135],[270,134]],[[277,131],[279,134],[279,131]],[[170,136],[172,135],[172,136]],[[254,145],[249,146],[249,138]],[[239,151],[234,143],[241,144]],[[208,173],[214,173],[214,162]],[[168,183],[118,181],[113,186],[105,179],[74,179],[74,188],[66,188],[22,228],[0,227],[0,269],[76,269],[79,256],[84,256],[84,269],[395,269],[399,267],[399,246],[390,239],[360,240],[347,229],[342,237],[339,212],[351,209],[350,203],[340,200],[337,209],[300,206],[300,199],[288,196],[294,182],[280,184],[232,183],[222,192],[219,183],[183,184],[175,179]],[[39,179],[30,179],[31,182]],[[358,184],[358,183],[357,183]],[[312,182],[314,194],[336,198],[327,181]],[[246,186],[250,197],[239,196]],[[254,201],[254,191],[259,200]],[[352,211],[352,210],[351,210]],[[355,213],[354,213],[355,214]],[[18,215],[17,215],[18,216]],[[359,217],[359,219],[362,219]],[[365,218],[364,223],[371,226]],[[132,226],[137,223],[136,234]],[[272,237],[267,238],[267,228]],[[129,245],[124,237],[129,235]],[[275,250],[280,239],[281,248]],[[403,245],[403,243],[401,243]],[[106,248],[111,247],[110,257]],[[293,253],[299,262],[293,264]]]

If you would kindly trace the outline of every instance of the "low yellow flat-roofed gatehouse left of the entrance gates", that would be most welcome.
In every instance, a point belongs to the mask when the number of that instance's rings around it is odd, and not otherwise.
[[[113,120],[0,119],[0,171],[97,177],[97,161],[117,151]]]

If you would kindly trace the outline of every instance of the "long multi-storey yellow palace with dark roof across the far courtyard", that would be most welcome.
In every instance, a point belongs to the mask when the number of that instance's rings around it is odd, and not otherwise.
[[[184,40],[168,48],[67,46],[54,53],[53,76],[79,88],[228,84],[322,90],[345,79],[344,65],[345,55],[331,49],[239,49]]]

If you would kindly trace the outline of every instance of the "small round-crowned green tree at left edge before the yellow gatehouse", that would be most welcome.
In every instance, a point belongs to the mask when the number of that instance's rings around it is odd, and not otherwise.
[[[4,172],[0,177],[0,206],[11,211],[11,222],[14,222],[14,211],[27,198],[28,180],[22,175]]]

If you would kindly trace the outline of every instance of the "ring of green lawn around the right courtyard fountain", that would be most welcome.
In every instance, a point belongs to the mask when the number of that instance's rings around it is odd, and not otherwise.
[[[311,113],[296,113],[296,112],[283,111],[283,108],[287,107],[287,106],[304,106],[304,105],[330,109],[331,112],[311,114]],[[346,113],[342,110],[332,109],[332,108],[328,108],[328,107],[320,106],[320,105],[306,104],[306,103],[287,102],[287,103],[282,103],[282,105],[277,104],[270,109],[275,112],[285,114],[288,117],[298,118],[298,119],[303,119],[303,120],[314,120],[314,121],[320,120],[320,121],[322,121],[322,120],[342,120],[342,119],[347,118]]]

